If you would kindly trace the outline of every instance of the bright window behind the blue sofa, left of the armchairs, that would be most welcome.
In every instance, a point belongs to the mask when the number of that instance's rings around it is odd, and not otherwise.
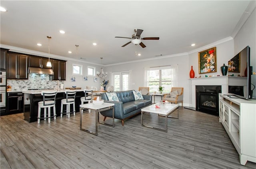
[[[112,73],[112,85],[114,86],[114,91],[124,91],[129,90],[130,84],[130,72],[114,72]]]

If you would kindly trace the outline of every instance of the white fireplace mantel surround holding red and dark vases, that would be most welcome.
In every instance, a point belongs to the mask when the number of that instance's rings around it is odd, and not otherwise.
[[[228,93],[228,76],[207,78],[190,78],[192,91],[192,107],[196,107],[196,85],[221,85],[222,93]]]

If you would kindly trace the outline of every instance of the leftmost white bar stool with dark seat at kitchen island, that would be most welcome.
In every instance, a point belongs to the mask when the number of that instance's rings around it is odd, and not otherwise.
[[[56,109],[55,109],[55,99],[57,91],[41,91],[43,96],[43,101],[38,102],[38,115],[37,123],[40,123],[40,119],[48,119],[48,123],[51,122],[51,117],[56,120]],[[51,116],[51,107],[53,107],[53,116]],[[44,108],[44,117],[41,117],[41,108]],[[46,117],[46,108],[48,108],[48,117]]]

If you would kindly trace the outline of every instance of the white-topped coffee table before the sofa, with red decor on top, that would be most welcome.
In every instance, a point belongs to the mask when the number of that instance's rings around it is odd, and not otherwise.
[[[157,109],[156,105],[160,105],[160,109]],[[176,109],[178,109],[178,117],[169,116]],[[157,113],[159,116],[164,116],[165,117],[165,129],[160,129],[160,128],[144,125],[143,124],[143,113],[144,112]],[[141,109],[141,126],[167,132],[167,117],[176,118],[176,119],[179,118],[179,105],[178,104],[167,103],[165,105],[161,105],[160,103],[156,103],[156,104],[153,104],[153,105],[150,105],[148,107]]]

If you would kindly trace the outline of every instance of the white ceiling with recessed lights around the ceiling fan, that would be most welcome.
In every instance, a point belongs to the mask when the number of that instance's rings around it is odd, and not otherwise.
[[[234,35],[250,1],[5,1],[0,43],[86,62],[116,64],[190,52]],[[146,48],[122,45],[144,30]],[[66,34],[60,34],[65,30]],[[93,46],[96,42],[98,45]],[[41,43],[42,46],[37,46]],[[190,46],[195,43],[196,46]],[[68,54],[68,51],[72,54]],[[141,56],[136,56],[141,53]]]

